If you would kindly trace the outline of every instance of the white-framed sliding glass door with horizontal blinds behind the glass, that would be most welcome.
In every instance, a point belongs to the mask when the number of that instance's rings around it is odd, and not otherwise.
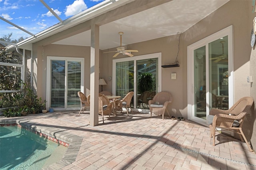
[[[79,109],[78,91],[83,92],[83,59],[48,57],[48,106],[54,109]]]

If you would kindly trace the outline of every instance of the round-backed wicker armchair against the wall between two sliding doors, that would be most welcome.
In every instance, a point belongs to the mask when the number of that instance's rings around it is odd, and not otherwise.
[[[149,109],[150,109],[150,117],[152,117],[152,113],[155,115],[162,115],[164,119],[164,113],[167,111],[169,117],[170,113],[166,109],[166,107],[172,103],[172,95],[167,91],[162,91],[157,93],[153,100],[148,101]]]

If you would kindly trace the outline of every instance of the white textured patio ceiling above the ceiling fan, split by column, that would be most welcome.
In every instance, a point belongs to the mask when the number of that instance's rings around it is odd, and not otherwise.
[[[185,32],[229,0],[173,0],[100,26],[100,49],[143,42]],[[90,30],[54,44],[90,46]]]

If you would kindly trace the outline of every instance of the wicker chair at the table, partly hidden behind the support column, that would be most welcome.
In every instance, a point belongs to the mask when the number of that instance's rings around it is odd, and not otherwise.
[[[87,97],[87,101],[90,104],[90,95]],[[99,114],[102,115],[102,121],[104,123],[104,115],[112,113],[112,102],[105,95],[99,94]]]

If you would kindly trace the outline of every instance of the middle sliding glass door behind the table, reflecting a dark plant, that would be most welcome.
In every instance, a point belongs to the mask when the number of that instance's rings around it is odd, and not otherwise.
[[[124,97],[134,91],[132,107],[148,111],[148,100],[161,90],[161,72],[158,63],[161,53],[113,60],[113,94]]]

